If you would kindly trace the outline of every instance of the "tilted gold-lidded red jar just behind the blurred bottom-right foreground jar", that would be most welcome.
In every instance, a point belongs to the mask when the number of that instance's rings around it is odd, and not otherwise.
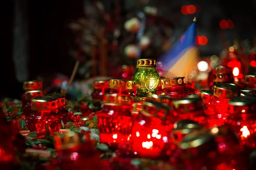
[[[205,130],[204,126],[199,125],[197,122],[193,120],[181,120],[179,122],[175,122],[174,129],[172,131],[172,139],[175,144],[180,144],[183,137],[188,135],[189,133],[201,133]]]

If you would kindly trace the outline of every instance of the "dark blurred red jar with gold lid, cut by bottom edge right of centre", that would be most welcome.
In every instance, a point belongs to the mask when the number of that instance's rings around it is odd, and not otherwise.
[[[214,137],[207,133],[190,133],[179,144],[184,170],[215,170],[221,160]]]

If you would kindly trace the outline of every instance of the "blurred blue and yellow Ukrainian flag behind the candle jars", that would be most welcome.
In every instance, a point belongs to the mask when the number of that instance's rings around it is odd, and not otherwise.
[[[197,65],[196,22],[195,19],[193,21],[175,45],[157,60],[162,62],[163,74],[166,78],[187,77],[186,75],[190,74]]]

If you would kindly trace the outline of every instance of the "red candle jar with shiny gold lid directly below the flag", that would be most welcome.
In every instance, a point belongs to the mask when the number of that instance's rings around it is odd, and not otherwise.
[[[175,120],[193,120],[200,125],[206,124],[206,115],[203,109],[202,99],[199,96],[186,97],[173,100],[173,115]]]

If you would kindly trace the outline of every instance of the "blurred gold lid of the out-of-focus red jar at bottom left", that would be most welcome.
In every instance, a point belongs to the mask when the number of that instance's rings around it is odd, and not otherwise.
[[[56,150],[70,149],[81,144],[81,138],[76,132],[70,131],[62,137],[55,136]]]

